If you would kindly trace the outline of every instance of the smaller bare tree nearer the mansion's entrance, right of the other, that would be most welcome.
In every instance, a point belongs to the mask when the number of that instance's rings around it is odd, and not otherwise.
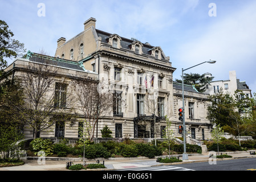
[[[99,81],[85,77],[76,81],[76,102],[86,122],[84,129],[92,142],[100,117],[109,115],[113,106],[113,95],[104,79]]]

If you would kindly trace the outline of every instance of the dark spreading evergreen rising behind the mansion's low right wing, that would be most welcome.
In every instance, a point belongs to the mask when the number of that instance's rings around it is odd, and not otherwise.
[[[214,77],[205,77],[205,74],[198,73],[184,73],[184,84],[194,85],[198,92],[203,93],[206,90],[206,85],[209,85]],[[182,80],[176,79],[177,82],[182,83]]]

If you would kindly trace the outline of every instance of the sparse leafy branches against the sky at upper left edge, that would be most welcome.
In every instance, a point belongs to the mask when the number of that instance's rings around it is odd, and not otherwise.
[[[0,20],[0,76],[3,73],[3,69],[7,66],[7,58],[21,56],[26,52],[24,44],[18,40],[11,39],[14,34],[9,30],[8,24]]]

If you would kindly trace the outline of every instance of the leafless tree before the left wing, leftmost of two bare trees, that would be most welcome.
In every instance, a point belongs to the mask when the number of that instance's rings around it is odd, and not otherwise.
[[[43,56],[31,57],[30,60],[28,69],[21,75],[26,103],[22,113],[36,138],[40,131],[55,123],[63,125],[70,118],[71,101],[65,80],[55,82],[58,70],[54,62]]]

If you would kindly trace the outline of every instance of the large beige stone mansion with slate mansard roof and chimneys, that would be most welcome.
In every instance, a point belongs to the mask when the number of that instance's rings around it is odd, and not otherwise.
[[[97,30],[96,19],[90,18],[74,38],[58,39],[54,57],[28,52],[6,71],[18,75],[29,67],[33,57],[50,60],[51,66],[58,68],[55,84],[87,75],[104,80],[113,89],[111,112],[99,119],[95,137],[101,138],[100,130],[107,125],[113,138],[162,138],[165,115],[172,122],[174,136],[181,137],[178,109],[182,107],[182,85],[173,81],[176,68],[161,47]],[[212,125],[206,119],[209,94],[198,93],[191,85],[185,85],[184,89],[185,121],[190,138],[210,139]],[[26,138],[33,137],[32,129],[24,130]],[[39,137],[78,139],[78,131],[79,117],[72,121],[72,126],[54,125],[51,130],[40,132]]]

